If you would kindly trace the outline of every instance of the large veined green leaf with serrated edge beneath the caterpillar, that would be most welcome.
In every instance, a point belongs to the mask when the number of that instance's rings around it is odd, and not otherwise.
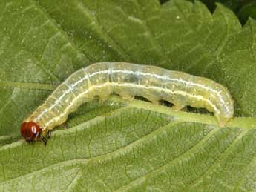
[[[252,191],[256,23],[198,1],[0,1],[0,191]],[[70,114],[45,147],[19,125],[93,62],[154,64],[225,85],[235,117],[118,96]],[[9,144],[7,144],[9,143]]]

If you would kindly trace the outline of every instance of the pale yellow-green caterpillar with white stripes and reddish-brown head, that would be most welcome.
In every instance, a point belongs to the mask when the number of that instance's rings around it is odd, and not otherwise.
[[[95,96],[105,100],[112,93],[132,100],[143,96],[153,103],[165,100],[175,110],[187,105],[204,107],[214,113],[220,127],[232,118],[234,106],[226,87],[199,76],[165,70],[151,65],[125,62],[101,62],[77,70],[45,102],[24,119],[21,134],[27,142],[42,139],[68,114]]]

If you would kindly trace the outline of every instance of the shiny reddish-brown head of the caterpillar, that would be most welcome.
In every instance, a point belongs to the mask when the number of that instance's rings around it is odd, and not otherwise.
[[[23,122],[21,126],[21,134],[26,142],[33,142],[39,139],[42,129],[35,122]]]

